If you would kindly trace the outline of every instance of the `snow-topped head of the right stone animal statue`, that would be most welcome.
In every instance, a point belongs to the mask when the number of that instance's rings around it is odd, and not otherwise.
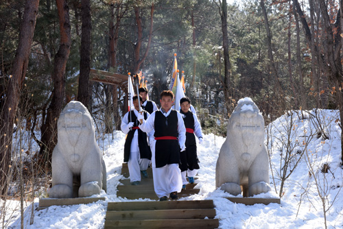
[[[252,145],[264,141],[264,119],[251,99],[241,99],[228,121],[228,136]]]

